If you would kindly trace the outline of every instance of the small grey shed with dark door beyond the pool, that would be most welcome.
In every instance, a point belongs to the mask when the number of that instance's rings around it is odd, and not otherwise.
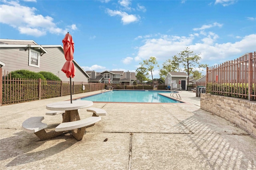
[[[171,90],[182,88],[187,90],[187,79],[188,75],[185,72],[168,72],[164,79],[166,86],[171,86]]]

